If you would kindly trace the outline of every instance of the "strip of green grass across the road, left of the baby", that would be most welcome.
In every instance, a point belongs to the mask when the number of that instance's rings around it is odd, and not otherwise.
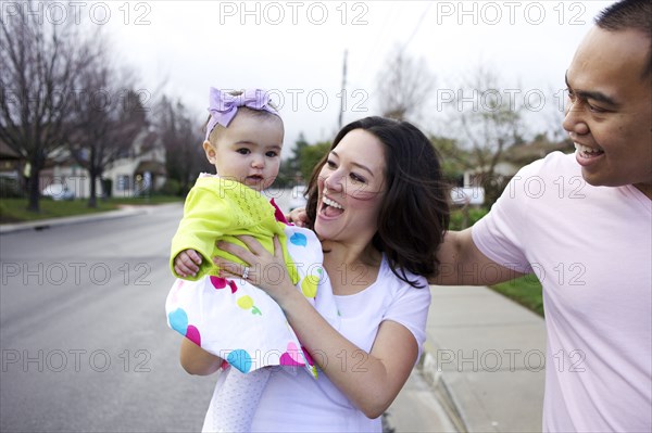
[[[176,196],[158,195],[152,198],[98,199],[98,207],[88,207],[88,200],[55,202],[51,199],[41,199],[39,201],[40,212],[34,213],[27,211],[27,199],[0,199],[0,224],[95,214],[117,209],[121,204],[146,205],[179,202],[181,200]]]

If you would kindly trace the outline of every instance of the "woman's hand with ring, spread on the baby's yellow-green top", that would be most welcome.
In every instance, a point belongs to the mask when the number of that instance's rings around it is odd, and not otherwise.
[[[214,257],[213,263],[221,269],[220,277],[246,280],[264,290],[283,308],[283,303],[288,296],[299,292],[290,280],[278,237],[274,237],[274,255],[269,254],[253,237],[240,235],[238,239],[247,245],[247,249],[224,241],[218,241],[217,247],[235,255],[249,266]]]

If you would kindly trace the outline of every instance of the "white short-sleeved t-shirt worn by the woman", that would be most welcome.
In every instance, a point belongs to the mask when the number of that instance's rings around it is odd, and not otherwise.
[[[415,289],[400,280],[384,257],[376,282],[348,296],[336,296],[340,314],[338,331],[361,348],[354,361],[344,364],[342,353],[327,362],[351,371],[363,371],[380,322],[391,320],[408,328],[418,345],[421,356],[426,340],[426,320],[430,290],[426,279],[406,272],[410,280],[423,285]],[[339,278],[340,276],[335,276]],[[354,278],[354,276],[349,276]],[[334,278],[334,277],[331,277]],[[319,356],[318,353],[315,356]],[[418,359],[418,358],[417,358]],[[317,379],[305,370],[272,367],[273,372],[259,403],[252,424],[253,432],[380,432],[380,418],[368,419],[319,370]],[[228,377],[221,373],[217,390]],[[204,421],[204,431],[212,425],[213,400]]]

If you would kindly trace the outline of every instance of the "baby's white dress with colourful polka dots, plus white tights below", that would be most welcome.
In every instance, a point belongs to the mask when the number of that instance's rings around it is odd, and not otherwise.
[[[337,328],[339,320],[333,291],[322,263],[322,245],[311,230],[286,226],[287,250],[299,273],[297,290]],[[273,270],[268,270],[273,272]],[[278,271],[276,271],[278,272]],[[275,273],[268,277],[274,278]],[[265,367],[304,368],[316,378],[317,370],[283,310],[269,295],[251,283],[206,276],[198,281],[177,279],[166,300],[170,328],[233,368],[223,393],[235,389],[242,396],[221,398],[215,431],[247,431],[268,370]],[[261,370],[262,371],[259,371]],[[251,372],[256,372],[251,374]],[[237,374],[236,374],[237,373]],[[225,394],[226,395],[226,394]]]

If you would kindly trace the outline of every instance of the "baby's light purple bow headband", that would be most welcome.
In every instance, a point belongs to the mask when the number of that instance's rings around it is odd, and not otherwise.
[[[218,124],[226,128],[238,113],[239,106],[264,110],[278,116],[278,112],[269,105],[269,102],[267,92],[261,89],[244,90],[242,94],[234,97],[211,87],[211,93],[209,94],[209,113],[211,113],[211,118],[209,119],[209,125],[206,125],[205,139],[209,139],[211,131]]]

